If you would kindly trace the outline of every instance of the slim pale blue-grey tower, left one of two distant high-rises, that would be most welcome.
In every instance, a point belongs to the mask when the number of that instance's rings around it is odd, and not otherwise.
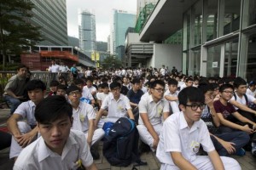
[[[89,9],[79,9],[79,48],[90,57],[96,54],[96,20]]]

